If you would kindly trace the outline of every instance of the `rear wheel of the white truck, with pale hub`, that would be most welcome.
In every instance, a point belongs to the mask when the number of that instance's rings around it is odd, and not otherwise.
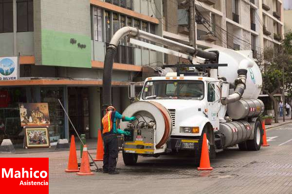
[[[247,149],[250,151],[259,150],[260,145],[262,143],[262,127],[261,127],[261,123],[259,121],[256,121],[256,125],[255,125],[254,130],[255,130],[254,139],[246,141]]]

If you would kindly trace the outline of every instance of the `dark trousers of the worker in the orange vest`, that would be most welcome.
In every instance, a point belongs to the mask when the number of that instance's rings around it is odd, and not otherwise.
[[[116,134],[107,134],[103,136],[104,140],[104,171],[113,172],[117,165],[118,157],[118,139]]]

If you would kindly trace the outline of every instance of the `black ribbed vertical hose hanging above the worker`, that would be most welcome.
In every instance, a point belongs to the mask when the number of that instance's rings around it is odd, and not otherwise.
[[[103,69],[103,83],[102,83],[102,104],[103,109],[106,109],[108,106],[111,106],[111,74],[112,74],[112,65],[113,65],[113,58],[116,53],[116,47],[110,45],[108,47],[104,62],[104,69]]]

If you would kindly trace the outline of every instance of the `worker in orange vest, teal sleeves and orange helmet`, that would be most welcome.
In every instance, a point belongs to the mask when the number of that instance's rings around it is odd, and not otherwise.
[[[113,106],[107,108],[107,113],[102,118],[103,141],[104,141],[104,157],[103,157],[103,173],[109,173],[110,175],[119,174],[116,171],[117,157],[118,157],[118,139],[117,133],[130,135],[129,131],[123,131],[116,129],[117,119],[122,121],[133,121],[135,116],[127,117],[123,116]]]

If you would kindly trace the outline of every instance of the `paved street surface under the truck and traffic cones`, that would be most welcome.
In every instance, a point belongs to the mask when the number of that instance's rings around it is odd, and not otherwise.
[[[218,153],[211,160],[213,171],[198,171],[192,158],[169,156],[140,157],[137,166],[126,167],[120,155],[120,175],[82,177],[64,172],[68,151],[1,157],[49,157],[51,194],[291,194],[292,124],[268,129],[267,136],[271,146],[260,151],[233,147]]]

